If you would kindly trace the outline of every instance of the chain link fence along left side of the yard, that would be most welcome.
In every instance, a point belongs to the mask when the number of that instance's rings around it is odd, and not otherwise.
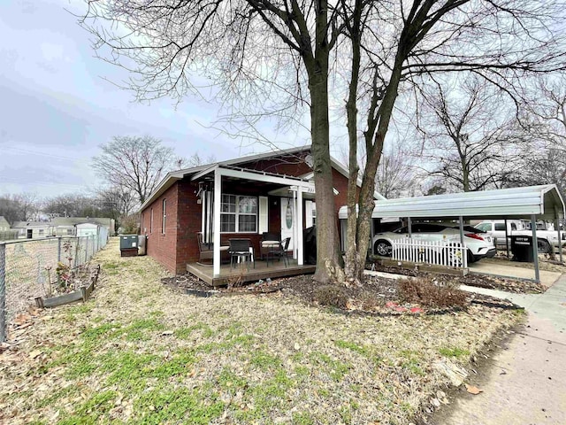
[[[34,299],[50,293],[57,267],[82,266],[108,242],[108,229],[97,235],[60,236],[0,242],[0,343],[8,323]]]

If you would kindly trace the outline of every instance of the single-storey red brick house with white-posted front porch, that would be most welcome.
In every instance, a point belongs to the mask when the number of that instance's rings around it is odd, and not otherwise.
[[[230,239],[249,239],[258,258],[262,236],[269,232],[280,241],[290,237],[287,251],[300,269],[302,230],[316,222],[311,161],[307,146],[167,174],[141,207],[148,255],[173,273],[188,270],[216,284],[221,252],[227,250]],[[347,203],[348,170],[334,159],[332,166],[338,212]],[[197,264],[203,259],[203,243],[209,247],[212,243],[207,257],[212,267],[205,271]]]

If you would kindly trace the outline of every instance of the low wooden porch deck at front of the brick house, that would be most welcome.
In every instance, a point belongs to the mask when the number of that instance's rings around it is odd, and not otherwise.
[[[264,260],[256,260],[256,268],[253,263],[249,263],[249,268],[245,263],[231,268],[229,264],[223,264],[220,267],[220,275],[214,276],[212,266],[200,263],[187,264],[187,272],[194,274],[196,277],[212,286],[226,285],[231,280],[241,279],[241,282],[256,282],[260,279],[268,277],[275,279],[277,277],[296,276],[298,274],[313,274],[317,266],[307,264],[304,266],[297,265],[296,259],[289,259],[289,265],[285,267],[283,260],[275,262],[270,261],[269,267]]]

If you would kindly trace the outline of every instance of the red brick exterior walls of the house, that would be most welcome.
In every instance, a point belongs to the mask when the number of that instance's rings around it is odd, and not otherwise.
[[[242,168],[262,170],[275,174],[303,175],[310,173],[310,167],[297,157],[261,160],[242,163]],[[240,182],[223,182],[222,192],[232,195],[265,196],[268,191],[277,188],[269,184],[241,184]],[[336,213],[340,206],[346,205],[348,197],[348,179],[333,169],[333,187],[339,191],[334,197]],[[161,197],[142,211],[142,233],[148,236],[147,253],[157,259],[172,273],[184,273],[187,263],[198,261],[199,251],[196,239],[201,231],[203,205],[197,204],[196,192],[198,183],[189,179],[173,183]],[[165,234],[162,234],[163,200],[166,199]],[[304,202],[304,200],[303,200]],[[280,198],[268,198],[269,231],[279,233],[281,230]],[[150,231],[150,215],[153,209],[153,228]],[[303,205],[304,211],[304,205]],[[304,217],[303,217],[304,227]],[[245,237],[252,241],[259,256],[261,235],[256,233],[222,234],[221,244],[228,245],[232,237]]]

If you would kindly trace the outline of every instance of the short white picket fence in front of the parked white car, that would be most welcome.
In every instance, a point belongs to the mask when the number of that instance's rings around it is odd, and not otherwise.
[[[457,241],[420,241],[409,237],[392,241],[391,258],[432,266],[468,268],[465,244]]]

